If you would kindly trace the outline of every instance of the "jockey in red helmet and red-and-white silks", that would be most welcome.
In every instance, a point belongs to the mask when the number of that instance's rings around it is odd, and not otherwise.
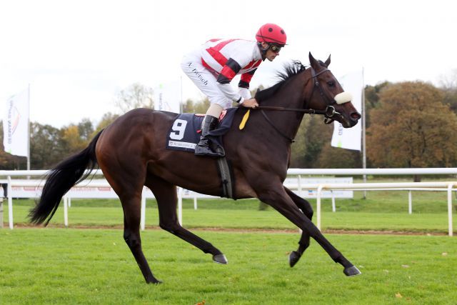
[[[211,39],[184,56],[181,68],[211,103],[201,124],[196,155],[225,156],[223,149],[211,149],[209,131],[216,128],[221,112],[231,107],[233,101],[248,108],[258,106],[256,99],[251,98],[249,82],[261,62],[273,61],[285,45],[284,30],[276,24],[264,24],[257,31],[256,41]],[[241,80],[236,91],[230,82],[238,74]]]

